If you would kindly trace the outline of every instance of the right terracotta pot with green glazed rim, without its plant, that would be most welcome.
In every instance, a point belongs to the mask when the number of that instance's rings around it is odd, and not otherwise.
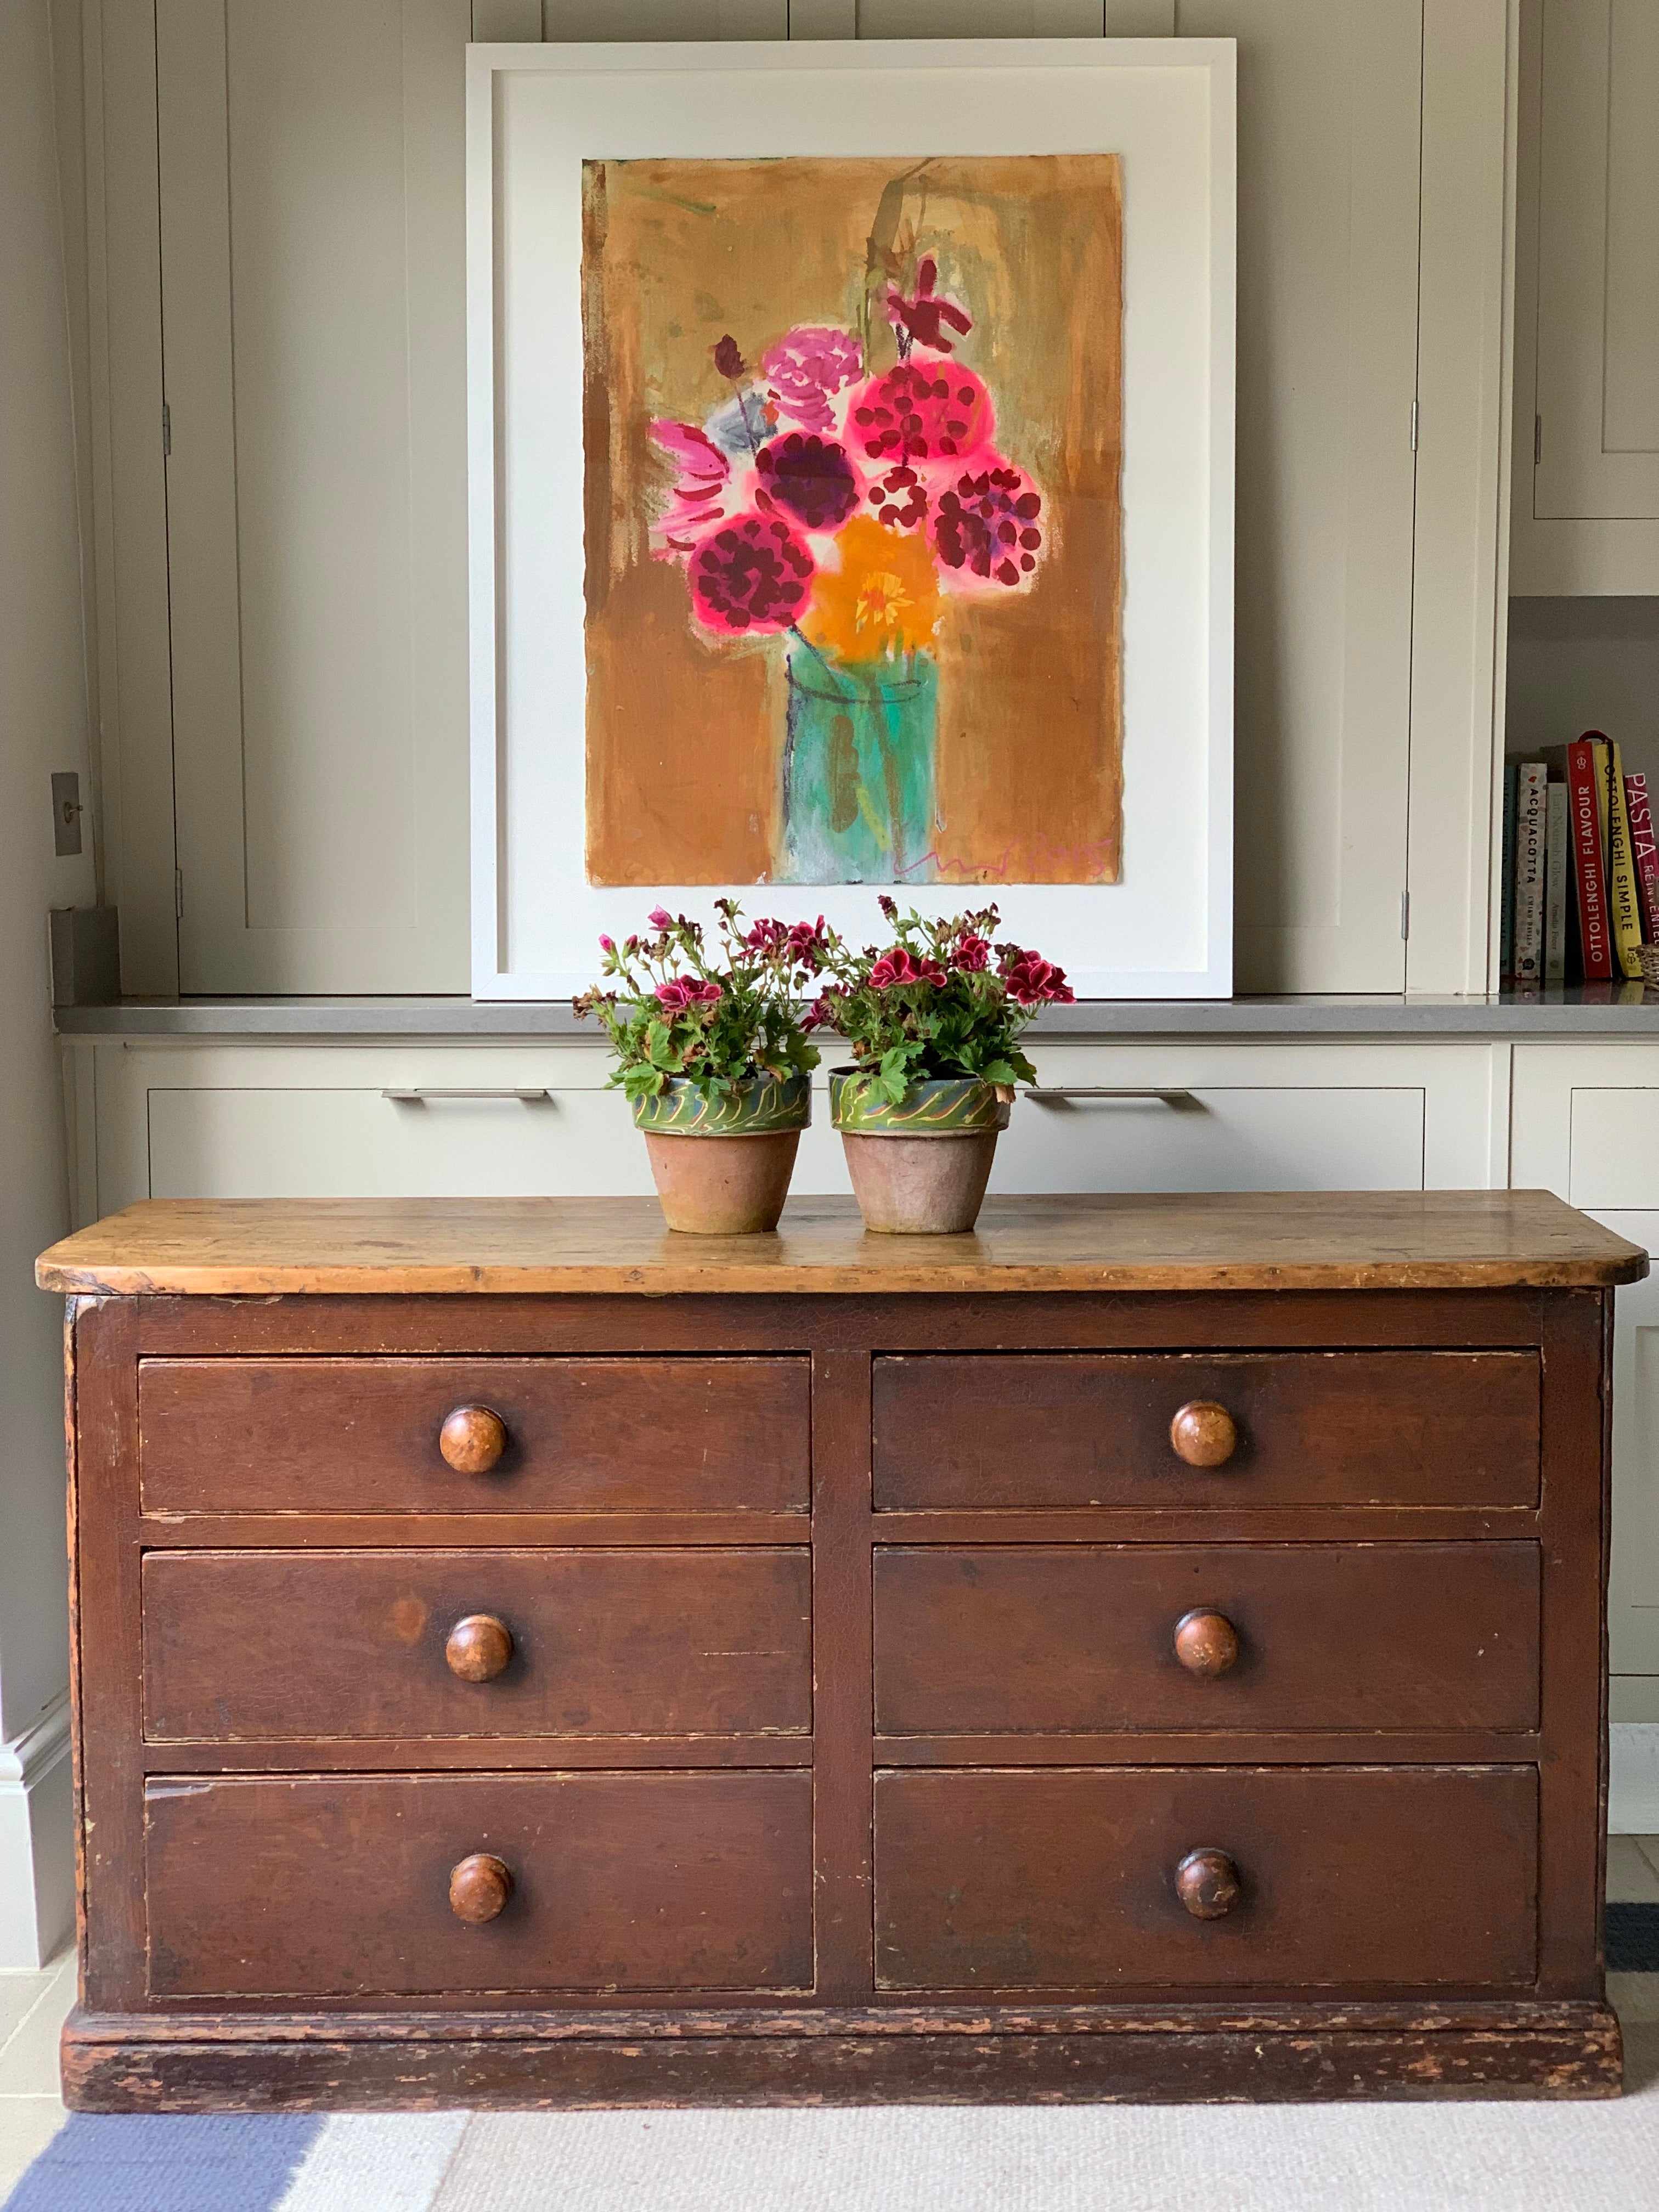
[[[880,1237],[971,1230],[1009,1104],[998,1084],[931,1077],[889,1106],[867,1095],[858,1068],[832,1068],[830,1117],[865,1228]]]

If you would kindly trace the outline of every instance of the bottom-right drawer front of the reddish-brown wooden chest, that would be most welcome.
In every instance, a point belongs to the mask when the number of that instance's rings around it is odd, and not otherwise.
[[[1179,1900],[1223,1851],[1239,1900]],[[876,1980],[927,1991],[1535,1978],[1533,1767],[876,1776]]]

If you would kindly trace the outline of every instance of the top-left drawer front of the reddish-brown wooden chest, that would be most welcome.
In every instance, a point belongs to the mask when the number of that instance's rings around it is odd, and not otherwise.
[[[807,1360],[139,1363],[146,1513],[805,1513]],[[438,1431],[484,1405],[487,1473]],[[666,1442],[666,1440],[672,1442]]]

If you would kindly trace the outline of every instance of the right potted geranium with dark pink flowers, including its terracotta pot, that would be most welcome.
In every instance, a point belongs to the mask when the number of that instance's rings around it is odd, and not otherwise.
[[[991,942],[995,907],[925,920],[883,898],[880,911],[891,945],[854,953],[825,931],[818,949],[812,1018],[854,1053],[830,1071],[830,1113],[867,1230],[971,1230],[1013,1084],[1035,1082],[1020,1033],[1073,991],[1042,953]]]

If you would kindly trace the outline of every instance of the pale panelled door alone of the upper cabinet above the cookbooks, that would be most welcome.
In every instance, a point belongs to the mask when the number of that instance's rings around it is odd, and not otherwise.
[[[1533,513],[1659,520],[1652,0],[1544,0],[1537,153]]]

